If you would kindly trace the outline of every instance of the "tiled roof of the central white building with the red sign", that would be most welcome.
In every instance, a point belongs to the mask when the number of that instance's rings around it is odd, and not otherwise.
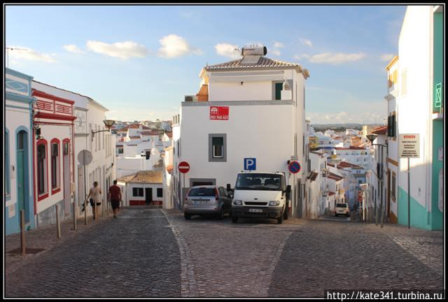
[[[228,71],[228,70],[245,70],[245,69],[282,69],[282,68],[295,68],[297,71],[304,74],[305,78],[309,78],[309,72],[307,69],[302,69],[302,66],[297,63],[283,62],[275,59],[269,59],[267,57],[260,57],[256,64],[241,64],[244,58],[237,59],[235,61],[225,62],[221,64],[215,64],[205,66],[206,71]]]

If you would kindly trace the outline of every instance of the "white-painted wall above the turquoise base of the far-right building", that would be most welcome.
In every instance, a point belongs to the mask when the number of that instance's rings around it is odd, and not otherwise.
[[[420,134],[420,157],[410,160],[411,196],[430,208],[430,167],[432,113],[430,24],[432,6],[407,6],[398,43],[398,133]],[[403,94],[402,75],[407,71],[407,93]],[[399,186],[407,192],[407,159],[400,159]]]

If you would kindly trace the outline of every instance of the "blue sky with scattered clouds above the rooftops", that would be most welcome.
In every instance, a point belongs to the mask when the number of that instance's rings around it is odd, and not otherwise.
[[[171,120],[206,64],[261,44],[309,70],[311,124],[386,123],[405,6],[6,6],[7,62],[113,120]]]

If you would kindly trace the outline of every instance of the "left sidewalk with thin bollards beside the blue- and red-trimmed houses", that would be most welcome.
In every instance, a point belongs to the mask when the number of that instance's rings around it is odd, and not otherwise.
[[[87,217],[87,225],[84,224],[84,215],[78,217],[76,220],[76,231],[73,231],[73,218],[69,218],[60,223],[61,225],[61,238],[57,238],[57,225],[51,224],[38,229],[31,229],[25,232],[25,246],[27,252],[25,257],[22,257],[20,252],[20,233],[5,236],[5,275],[14,273],[23,264],[27,264],[29,261],[34,261],[41,254],[45,254],[53,247],[61,245],[64,241],[73,238],[88,229],[92,229],[98,224],[101,224],[105,220],[111,219],[112,213],[104,213],[104,217],[99,215],[98,222],[92,220],[92,216]],[[18,253],[10,253],[10,251],[19,249]],[[29,249],[29,250],[28,250]],[[39,249],[33,251],[31,249]],[[32,254],[31,252],[37,252]]]

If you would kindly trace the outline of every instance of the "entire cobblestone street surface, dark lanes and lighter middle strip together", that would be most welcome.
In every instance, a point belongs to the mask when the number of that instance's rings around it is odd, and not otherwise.
[[[443,288],[441,231],[343,219],[232,224],[145,207],[91,224],[40,256],[6,261],[6,296],[323,297],[324,289]]]

